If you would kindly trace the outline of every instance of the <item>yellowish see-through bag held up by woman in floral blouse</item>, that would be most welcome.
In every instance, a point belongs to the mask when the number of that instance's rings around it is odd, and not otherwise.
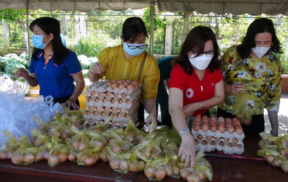
[[[245,93],[245,90],[237,89],[234,102],[231,106],[231,112],[237,117],[241,124],[248,126],[251,123],[252,114],[256,108],[248,105]]]

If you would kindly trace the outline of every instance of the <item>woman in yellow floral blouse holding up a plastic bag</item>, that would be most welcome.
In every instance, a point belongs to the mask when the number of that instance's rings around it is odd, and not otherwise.
[[[281,52],[273,22],[267,18],[254,20],[242,44],[229,47],[222,56],[225,99],[218,105],[217,117],[234,118],[230,108],[237,88],[242,88],[247,105],[255,111],[251,124],[242,125],[244,134],[259,135],[265,130],[264,108],[268,111],[271,135],[278,136],[278,114],[281,98],[280,61],[272,53]],[[246,84],[246,89],[244,85]]]

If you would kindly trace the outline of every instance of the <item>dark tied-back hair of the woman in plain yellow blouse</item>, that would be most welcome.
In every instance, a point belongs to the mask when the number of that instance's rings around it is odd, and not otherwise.
[[[135,42],[142,34],[148,38],[145,23],[140,17],[130,17],[125,20],[122,27],[124,41]]]

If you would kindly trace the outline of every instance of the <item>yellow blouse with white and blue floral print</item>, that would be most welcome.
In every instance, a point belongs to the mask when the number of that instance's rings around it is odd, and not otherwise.
[[[242,59],[236,50],[237,45],[228,48],[222,56],[223,81],[232,84],[246,84],[247,104],[253,109],[253,115],[269,111],[279,112],[281,98],[281,69],[280,61],[270,54],[266,58],[248,57]],[[218,105],[224,111],[230,112],[234,95],[225,93],[223,104]]]

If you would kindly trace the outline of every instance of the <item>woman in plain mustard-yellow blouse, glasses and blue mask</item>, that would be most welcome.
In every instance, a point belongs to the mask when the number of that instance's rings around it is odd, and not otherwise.
[[[147,37],[147,30],[141,18],[127,18],[122,27],[122,44],[116,47],[107,47],[99,53],[99,62],[92,65],[88,72],[90,81],[98,80],[99,76],[106,76],[107,80],[122,80],[123,78],[137,80],[146,53]],[[155,99],[159,79],[160,72],[157,61],[153,56],[147,54],[139,80],[143,86],[138,110],[139,122],[144,122],[144,108],[149,114],[146,126],[151,122],[155,122],[157,125]]]

